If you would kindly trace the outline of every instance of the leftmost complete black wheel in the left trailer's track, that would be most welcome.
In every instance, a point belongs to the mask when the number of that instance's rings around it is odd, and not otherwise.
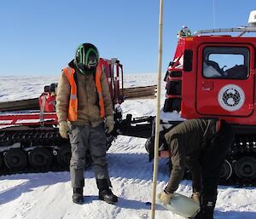
[[[26,154],[20,149],[10,149],[4,156],[4,163],[10,170],[22,170],[26,167]]]

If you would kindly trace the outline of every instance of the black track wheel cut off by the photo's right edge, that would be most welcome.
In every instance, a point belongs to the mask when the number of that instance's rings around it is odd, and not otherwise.
[[[253,179],[256,177],[256,159],[251,157],[240,158],[236,162],[236,175],[239,178]]]

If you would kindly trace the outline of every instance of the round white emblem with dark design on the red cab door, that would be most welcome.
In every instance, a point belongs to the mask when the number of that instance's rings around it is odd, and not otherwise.
[[[239,110],[245,101],[243,90],[235,84],[227,84],[218,91],[218,104],[226,111]]]

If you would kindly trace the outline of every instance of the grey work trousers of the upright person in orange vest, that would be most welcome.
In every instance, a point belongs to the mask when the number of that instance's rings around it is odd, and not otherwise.
[[[90,151],[96,179],[109,180],[104,124],[94,128],[90,125],[71,125],[71,130],[72,134],[69,137],[72,152],[70,160],[72,187],[84,187],[84,159],[87,151]]]

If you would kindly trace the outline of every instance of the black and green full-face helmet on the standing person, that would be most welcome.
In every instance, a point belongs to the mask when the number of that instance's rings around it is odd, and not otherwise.
[[[96,46],[91,43],[83,43],[79,45],[75,54],[75,65],[83,74],[95,72],[99,61],[99,52]]]

